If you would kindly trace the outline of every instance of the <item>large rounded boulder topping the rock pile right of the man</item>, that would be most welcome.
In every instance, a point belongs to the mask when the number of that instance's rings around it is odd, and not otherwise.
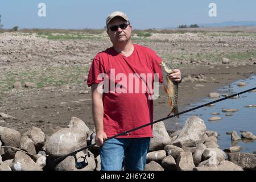
[[[189,117],[181,131],[181,134],[173,144],[180,148],[196,147],[202,140],[206,131],[203,119],[197,116]]]

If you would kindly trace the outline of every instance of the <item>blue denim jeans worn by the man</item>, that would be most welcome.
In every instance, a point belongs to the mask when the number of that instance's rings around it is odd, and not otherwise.
[[[143,171],[146,165],[150,137],[112,138],[100,147],[101,171]]]

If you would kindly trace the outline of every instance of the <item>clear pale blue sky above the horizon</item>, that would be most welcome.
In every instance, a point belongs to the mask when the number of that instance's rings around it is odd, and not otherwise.
[[[212,2],[216,17],[208,15]],[[39,3],[46,4],[46,17],[38,16]],[[104,28],[106,16],[117,10],[127,14],[135,29],[256,21],[255,0],[0,0],[3,28]]]

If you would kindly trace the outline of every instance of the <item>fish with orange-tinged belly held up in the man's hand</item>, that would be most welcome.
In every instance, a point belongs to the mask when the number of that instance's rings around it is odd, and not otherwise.
[[[168,75],[173,72],[173,69],[170,64],[167,64],[164,61],[161,61],[159,64],[162,67],[164,91],[167,93],[168,103],[171,106],[171,112],[167,115],[167,117],[170,116],[171,113],[174,113],[175,117],[179,118],[179,115],[176,115],[179,113],[177,106],[179,86],[176,81],[173,81],[168,77]]]

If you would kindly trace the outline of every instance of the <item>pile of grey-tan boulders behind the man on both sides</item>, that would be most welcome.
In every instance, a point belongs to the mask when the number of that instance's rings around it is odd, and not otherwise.
[[[154,124],[145,170],[255,170],[256,155],[226,153],[217,144],[218,134],[208,131],[199,117],[189,117],[182,130],[168,134],[163,122]],[[68,128],[46,136],[37,127],[22,135],[0,127],[1,170],[100,170],[99,147],[94,145],[76,154],[77,162],[88,163],[77,169],[74,156],[60,162],[54,159],[95,143],[95,129],[90,130],[79,118],[72,117]]]

